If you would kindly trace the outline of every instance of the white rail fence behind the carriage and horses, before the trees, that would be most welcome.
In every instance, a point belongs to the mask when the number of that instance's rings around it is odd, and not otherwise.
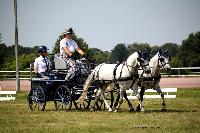
[[[163,77],[200,77],[200,67],[179,67],[171,68],[171,70],[177,71],[176,74],[161,73]],[[182,74],[181,70],[198,70],[195,72],[189,72],[188,74]],[[0,71],[0,80],[4,79],[16,79],[16,71]],[[34,71],[32,71],[34,73]],[[30,71],[19,71],[20,79],[30,79]]]

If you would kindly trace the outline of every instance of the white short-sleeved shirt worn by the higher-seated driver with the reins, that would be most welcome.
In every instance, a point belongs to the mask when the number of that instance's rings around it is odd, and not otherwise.
[[[77,43],[72,40],[72,39],[66,39],[66,38],[63,38],[61,41],[60,41],[60,54],[61,55],[66,55],[67,54],[65,53],[64,51],[64,47],[67,47],[68,50],[72,53],[75,52],[76,48],[78,48],[78,45]]]

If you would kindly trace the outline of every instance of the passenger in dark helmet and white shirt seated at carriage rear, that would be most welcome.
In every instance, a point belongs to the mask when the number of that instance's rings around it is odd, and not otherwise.
[[[40,55],[35,59],[34,62],[34,72],[37,74],[37,77],[44,78],[47,77],[50,72],[50,60],[48,59],[48,52],[46,46],[40,46],[38,48],[38,54]]]

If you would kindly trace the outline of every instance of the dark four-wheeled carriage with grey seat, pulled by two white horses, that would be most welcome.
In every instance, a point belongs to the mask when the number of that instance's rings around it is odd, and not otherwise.
[[[76,100],[83,92],[83,84],[92,71],[92,64],[85,59],[74,60],[74,62],[75,72],[73,78],[70,79],[65,79],[69,66],[58,54],[54,55],[54,70],[46,78],[32,78],[32,68],[30,69],[31,89],[27,100],[32,111],[45,110],[48,101],[54,101],[56,110],[70,110],[72,105],[76,109],[89,108],[91,101],[95,98],[99,84],[95,82],[89,87],[85,102],[78,106]],[[107,95],[113,95],[113,92],[107,92]],[[109,100],[113,101],[112,99]],[[105,109],[101,100],[97,103],[97,107],[98,109],[103,107]]]

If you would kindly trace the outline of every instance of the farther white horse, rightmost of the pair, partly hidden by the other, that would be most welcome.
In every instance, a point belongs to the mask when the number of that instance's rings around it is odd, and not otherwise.
[[[169,72],[171,70],[171,66],[169,64],[170,61],[170,56],[168,55],[168,51],[164,51],[162,52],[161,50],[159,50],[159,52],[153,57],[151,58],[150,62],[149,62],[149,66],[151,68],[151,81],[150,81],[150,88],[156,90],[162,98],[162,111],[166,111],[166,104],[165,104],[165,98],[164,98],[164,93],[162,92],[162,90],[160,89],[160,79],[161,79],[161,75],[160,75],[160,70],[165,70],[166,72]],[[141,72],[139,72],[141,73]],[[145,78],[144,80],[140,80],[140,83],[143,84],[145,83]],[[138,87],[138,86],[136,86]],[[139,105],[137,107],[137,111],[145,111],[144,106],[142,105],[142,101],[143,101],[143,95],[145,92],[145,86],[141,85],[141,91],[140,91],[140,95],[139,95]]]

